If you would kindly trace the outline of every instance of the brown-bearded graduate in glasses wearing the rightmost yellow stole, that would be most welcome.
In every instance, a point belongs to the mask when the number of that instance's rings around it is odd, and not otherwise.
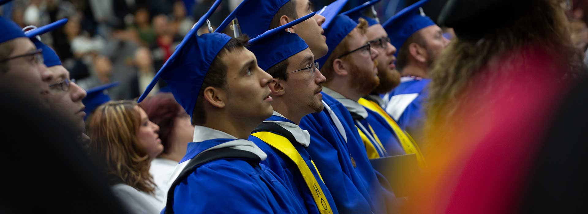
[[[366,29],[366,38],[368,38],[370,46],[372,46],[373,49],[376,49],[379,53],[375,59],[377,62],[376,68],[379,84],[372,90],[370,95],[359,98],[358,103],[366,108],[368,117],[366,117],[365,120],[373,129],[373,133],[376,135],[377,140],[382,143],[382,151],[385,152],[385,155],[381,156],[380,153],[377,152],[377,144],[366,144],[366,151],[368,151],[368,157],[372,159],[393,155],[416,154],[420,165],[424,167],[424,158],[422,157],[422,153],[416,142],[408,133],[406,133],[406,131],[400,128],[388,113],[386,113],[377,99],[380,97],[376,91],[390,91],[393,87],[396,87],[400,81],[400,74],[394,66],[396,59],[394,53],[396,53],[396,48],[390,44],[386,30],[380,25],[376,13],[373,10],[373,5],[377,2],[379,2],[379,0],[368,1],[363,5],[342,13],[344,15],[349,15],[353,20],[359,20],[362,18],[367,21],[368,28]],[[365,9],[368,9],[368,11],[362,12]],[[374,93],[376,93],[375,96],[372,95]],[[362,137],[364,137],[365,140],[369,140],[368,135],[362,135]]]

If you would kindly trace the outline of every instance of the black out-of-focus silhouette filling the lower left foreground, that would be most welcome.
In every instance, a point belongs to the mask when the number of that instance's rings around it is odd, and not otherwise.
[[[2,188],[0,213],[127,213],[108,188],[101,166],[78,143],[77,128],[67,116],[44,108],[4,71],[0,76],[0,111],[6,113],[2,120],[10,121],[0,125],[6,142],[0,151],[5,175],[0,182],[10,184]]]

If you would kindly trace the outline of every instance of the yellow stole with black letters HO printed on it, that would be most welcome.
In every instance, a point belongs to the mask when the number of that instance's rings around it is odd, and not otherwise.
[[[308,186],[308,189],[312,194],[312,198],[315,199],[316,207],[319,208],[319,213],[333,213],[330,208],[329,202],[325,198],[323,190],[320,188],[320,185],[318,184],[318,181],[316,181],[316,178],[312,174],[312,171],[310,171],[310,168],[308,168],[308,165],[306,165],[306,162],[304,161],[304,159],[302,159],[302,156],[300,156],[298,151],[296,151],[296,148],[294,148],[294,145],[292,145],[292,142],[290,142],[288,138],[285,138],[279,134],[270,133],[268,131],[260,131],[257,133],[253,133],[251,135],[258,137],[263,142],[266,142],[266,144],[269,144],[273,148],[276,148],[277,150],[288,156],[288,158],[290,158],[296,164],[296,167],[298,167],[300,174],[302,174],[302,178],[304,178],[306,186]],[[314,165],[316,173],[319,174],[319,177],[322,180],[322,177],[320,176],[319,170],[316,168],[315,163],[312,162],[312,165]]]

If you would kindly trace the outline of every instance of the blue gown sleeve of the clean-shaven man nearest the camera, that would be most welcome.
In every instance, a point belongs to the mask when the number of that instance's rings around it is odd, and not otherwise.
[[[198,176],[196,176],[198,174]],[[253,176],[253,178],[252,178]],[[275,213],[275,199],[255,175],[229,164],[206,164],[176,186],[175,213]]]

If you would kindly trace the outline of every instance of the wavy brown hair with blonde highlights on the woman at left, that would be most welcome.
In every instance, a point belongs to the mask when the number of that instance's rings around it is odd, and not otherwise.
[[[154,195],[155,183],[149,174],[149,155],[139,147],[137,133],[141,116],[135,101],[109,101],[88,118],[90,149],[106,167],[111,185],[121,181],[139,191]]]

